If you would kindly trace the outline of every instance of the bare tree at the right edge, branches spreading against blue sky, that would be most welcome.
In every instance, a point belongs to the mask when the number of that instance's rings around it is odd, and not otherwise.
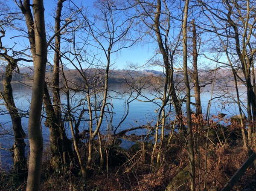
[[[253,57],[256,52],[255,35],[256,28],[255,2],[226,0],[224,2],[202,2],[198,1],[204,10],[205,17],[210,21],[211,27],[208,32],[215,33],[221,42],[221,50],[231,58],[230,61],[239,61],[238,67],[241,68],[243,81],[247,92],[247,116],[248,116],[248,145],[254,147],[254,127],[252,122],[255,121],[255,92],[251,84],[253,71]],[[218,6],[218,9],[216,9]],[[235,53],[235,54],[234,54]],[[234,64],[233,64],[234,66]],[[239,98],[239,97],[238,97]]]

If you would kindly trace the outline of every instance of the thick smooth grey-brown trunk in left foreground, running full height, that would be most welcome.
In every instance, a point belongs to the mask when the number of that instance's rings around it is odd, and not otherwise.
[[[28,1],[29,2],[29,1]],[[29,112],[29,174],[27,191],[38,191],[40,187],[43,156],[43,136],[41,133],[41,112],[44,96],[45,67],[47,63],[47,41],[44,24],[44,2],[33,0],[35,57],[34,82]]]

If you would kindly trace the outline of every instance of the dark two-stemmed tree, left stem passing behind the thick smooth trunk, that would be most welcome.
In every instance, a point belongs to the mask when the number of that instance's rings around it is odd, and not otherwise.
[[[49,96],[49,90],[47,84],[44,84],[44,107],[47,114],[45,126],[50,131],[50,148],[52,151],[51,167],[56,169],[62,164],[68,165],[70,159],[73,158],[72,142],[67,138],[66,132],[64,131],[63,123],[61,122],[61,108],[60,108],[60,96],[59,96],[59,61],[60,61],[60,21],[61,21],[61,10],[64,0],[59,0],[56,10],[55,17],[55,57],[54,57],[54,103],[52,104]],[[20,10],[25,16],[26,25],[28,30],[28,38],[30,42],[30,49],[33,58],[35,58],[35,32],[34,32],[34,19],[30,9],[30,1],[20,1]],[[67,23],[66,23],[67,24]],[[55,64],[56,63],[56,64]],[[55,106],[55,108],[53,107]],[[55,113],[56,111],[56,113]]]

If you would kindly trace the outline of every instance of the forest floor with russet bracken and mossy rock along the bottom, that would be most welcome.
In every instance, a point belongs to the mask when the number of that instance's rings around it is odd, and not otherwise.
[[[196,190],[221,190],[230,177],[249,158],[242,139],[231,133],[213,129],[208,133],[194,133]],[[236,131],[237,132],[237,131]],[[95,157],[90,177],[82,181],[74,167],[49,172],[49,160],[44,159],[41,191],[186,191],[189,190],[188,153],[184,139],[178,133],[171,142],[163,144],[160,168],[151,165],[152,144],[136,143],[124,150],[116,146],[103,169]],[[208,146],[207,146],[208,145]],[[143,149],[144,148],[144,149]],[[96,152],[95,152],[96,153]],[[97,154],[97,153],[96,153]],[[125,157],[125,159],[124,159]],[[0,190],[26,190],[26,180],[0,171]],[[256,191],[256,168],[251,165],[236,183],[233,191]]]

